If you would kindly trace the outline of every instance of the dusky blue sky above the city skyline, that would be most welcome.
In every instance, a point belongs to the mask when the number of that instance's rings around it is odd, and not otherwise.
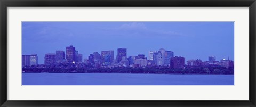
[[[22,54],[66,52],[72,44],[83,59],[93,52],[127,48],[127,55],[173,51],[190,59],[234,60],[234,22],[22,22]]]

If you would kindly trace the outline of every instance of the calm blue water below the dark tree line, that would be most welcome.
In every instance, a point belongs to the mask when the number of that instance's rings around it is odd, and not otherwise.
[[[22,73],[22,85],[234,85],[234,75]]]

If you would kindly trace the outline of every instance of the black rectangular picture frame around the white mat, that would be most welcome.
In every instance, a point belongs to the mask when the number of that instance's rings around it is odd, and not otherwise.
[[[255,106],[255,0],[0,0],[1,5],[1,106]],[[250,100],[249,101],[10,101],[7,100],[7,7],[249,7]],[[238,92],[239,93],[239,92]]]

